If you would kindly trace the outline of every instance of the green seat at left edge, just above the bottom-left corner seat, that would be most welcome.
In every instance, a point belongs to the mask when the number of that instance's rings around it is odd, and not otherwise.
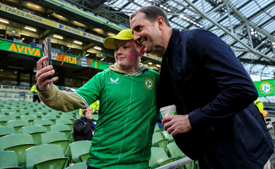
[[[18,166],[25,166],[25,150],[35,146],[27,134],[12,134],[0,138],[0,150],[14,151]]]

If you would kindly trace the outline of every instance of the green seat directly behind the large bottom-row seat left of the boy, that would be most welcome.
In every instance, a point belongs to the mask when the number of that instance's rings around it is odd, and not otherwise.
[[[61,132],[43,133],[41,134],[41,143],[59,145],[61,146],[65,157],[70,157],[70,150],[69,150],[70,141],[67,139],[67,136],[64,133],[61,133]]]

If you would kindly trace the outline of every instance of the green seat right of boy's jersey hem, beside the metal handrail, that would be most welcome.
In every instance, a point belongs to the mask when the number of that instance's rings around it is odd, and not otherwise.
[[[152,147],[151,148],[151,159],[149,160],[149,167],[157,168],[166,164],[172,163],[175,158],[168,158],[162,148]]]

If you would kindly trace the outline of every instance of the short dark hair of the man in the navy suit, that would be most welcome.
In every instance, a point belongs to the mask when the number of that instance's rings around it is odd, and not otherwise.
[[[164,12],[164,10],[162,10],[160,7],[157,6],[144,6],[141,7],[140,9],[136,10],[135,12],[133,12],[130,15],[129,21],[138,13],[138,12],[142,12],[145,14],[145,17],[150,20],[151,22],[154,22],[157,17],[161,16],[164,19],[164,23],[171,27],[167,18],[166,13]]]

